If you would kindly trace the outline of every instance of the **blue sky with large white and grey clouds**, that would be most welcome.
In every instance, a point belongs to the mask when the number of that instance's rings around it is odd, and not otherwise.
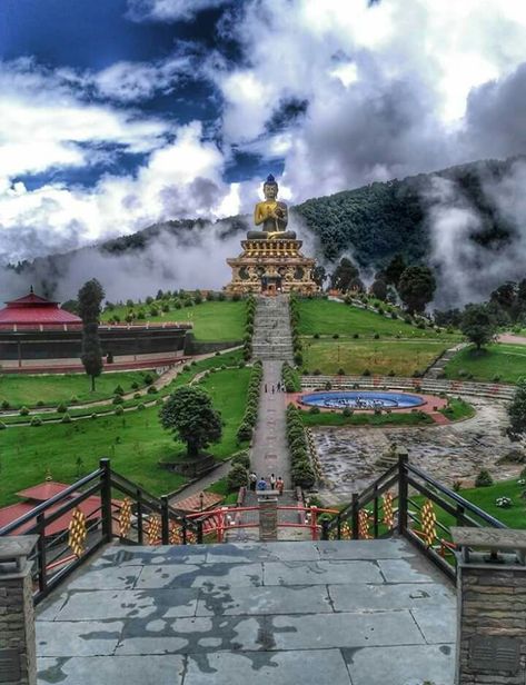
[[[524,152],[525,44],[516,0],[1,0],[0,261]]]

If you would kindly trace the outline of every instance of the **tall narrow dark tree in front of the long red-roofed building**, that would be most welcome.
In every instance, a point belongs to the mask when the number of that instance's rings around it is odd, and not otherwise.
[[[99,318],[105,291],[100,282],[92,278],[79,290],[79,316],[82,319],[82,351],[80,359],[88,376],[91,377],[91,390],[95,379],[102,373],[102,350],[99,339]]]

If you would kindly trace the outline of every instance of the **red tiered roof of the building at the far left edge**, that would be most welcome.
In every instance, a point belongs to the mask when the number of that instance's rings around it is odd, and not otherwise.
[[[28,295],[6,302],[6,307],[0,309],[0,327],[3,329],[8,327],[14,331],[27,328],[46,330],[49,327],[56,329],[57,326],[61,326],[64,327],[63,330],[68,330],[72,325],[78,328],[82,325],[82,320],[75,314],[61,309],[58,302],[34,295],[32,288]]]

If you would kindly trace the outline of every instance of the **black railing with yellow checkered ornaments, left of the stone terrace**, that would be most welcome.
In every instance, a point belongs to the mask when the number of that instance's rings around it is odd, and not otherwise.
[[[202,543],[204,518],[187,519],[168,498],[156,497],[111,470],[110,460],[0,528],[6,535],[37,535],[33,552],[38,603],[105,544]]]

